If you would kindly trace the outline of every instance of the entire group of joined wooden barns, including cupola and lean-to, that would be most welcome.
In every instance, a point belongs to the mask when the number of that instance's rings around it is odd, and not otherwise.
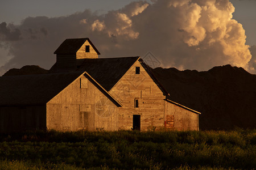
[[[168,100],[140,57],[98,58],[88,38],[55,54],[49,74],[0,78],[1,131],[199,130],[200,113]]]

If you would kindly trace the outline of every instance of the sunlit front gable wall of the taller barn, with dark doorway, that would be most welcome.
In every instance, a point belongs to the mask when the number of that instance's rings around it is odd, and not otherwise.
[[[136,67],[140,67],[140,74],[135,74]],[[141,130],[163,128],[165,97],[139,61],[109,92],[122,104],[119,108],[119,129],[133,128],[133,114],[141,115]],[[138,108],[135,108],[135,100],[138,100]]]

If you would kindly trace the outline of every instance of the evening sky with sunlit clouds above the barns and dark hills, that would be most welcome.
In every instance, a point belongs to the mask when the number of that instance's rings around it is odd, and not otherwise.
[[[150,53],[161,67],[256,74],[255,28],[255,0],[0,0],[0,75],[49,69],[61,42],[79,37],[102,58]]]

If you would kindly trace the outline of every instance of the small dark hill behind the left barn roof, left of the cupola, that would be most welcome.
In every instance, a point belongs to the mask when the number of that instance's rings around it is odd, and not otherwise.
[[[39,66],[23,66],[20,69],[10,69],[7,71],[3,76],[10,76],[10,75],[29,75],[29,74],[46,74],[48,70],[43,69]]]

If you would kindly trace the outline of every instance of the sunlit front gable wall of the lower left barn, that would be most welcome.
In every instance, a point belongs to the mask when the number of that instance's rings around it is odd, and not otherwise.
[[[84,75],[47,103],[47,129],[118,130],[118,107]]]

